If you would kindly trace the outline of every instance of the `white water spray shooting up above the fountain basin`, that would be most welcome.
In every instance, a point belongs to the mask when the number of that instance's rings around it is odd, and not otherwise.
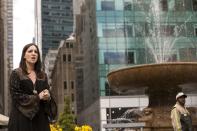
[[[141,10],[145,10],[143,3],[144,1],[134,0]],[[145,37],[145,47],[148,49],[150,54],[153,56],[155,63],[163,63],[174,61],[173,55],[176,53],[174,48],[176,41],[179,40],[180,34],[186,29],[186,23],[191,20],[192,15],[181,25],[169,24],[170,13],[172,11],[164,12],[162,5],[158,0],[152,0],[148,4],[148,10],[144,11],[143,15],[146,21],[147,32],[142,32]],[[165,14],[165,20],[161,15],[161,12]],[[138,26],[135,27],[136,30],[141,30]]]

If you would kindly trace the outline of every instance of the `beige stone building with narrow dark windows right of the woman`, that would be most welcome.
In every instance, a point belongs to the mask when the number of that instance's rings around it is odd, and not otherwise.
[[[82,55],[76,45],[75,36],[62,40],[51,74],[52,90],[57,101],[58,113],[63,112],[64,98],[70,99],[72,113],[77,115],[77,85],[82,85]],[[77,78],[80,81],[77,81]]]

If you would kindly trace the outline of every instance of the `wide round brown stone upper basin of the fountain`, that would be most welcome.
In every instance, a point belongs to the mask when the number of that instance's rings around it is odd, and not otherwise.
[[[197,83],[197,62],[146,64],[114,70],[107,75],[110,87],[126,93],[132,88]]]

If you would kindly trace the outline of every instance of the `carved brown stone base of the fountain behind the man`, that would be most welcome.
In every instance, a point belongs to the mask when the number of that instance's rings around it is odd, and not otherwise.
[[[171,109],[171,106],[145,108],[138,121],[146,123],[145,131],[172,131]],[[192,116],[193,126],[197,129],[197,108],[189,107],[188,110]]]

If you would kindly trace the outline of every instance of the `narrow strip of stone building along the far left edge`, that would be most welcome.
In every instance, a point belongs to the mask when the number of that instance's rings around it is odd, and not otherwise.
[[[0,1],[0,113],[8,114],[7,1]]]

